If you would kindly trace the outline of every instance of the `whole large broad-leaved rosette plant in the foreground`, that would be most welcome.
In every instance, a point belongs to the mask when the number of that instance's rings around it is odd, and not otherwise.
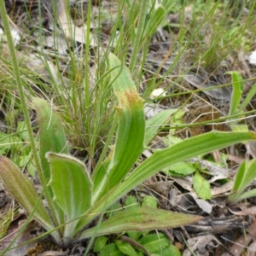
[[[155,208],[127,209],[84,229],[138,184],[161,169],[206,154],[233,143],[256,139],[253,132],[217,132],[186,139],[172,147],[156,150],[152,156],[134,167],[138,157],[154,138],[160,124],[173,113],[166,110],[147,122],[143,99],[138,96],[129,70],[119,59],[108,56],[108,73],[117,98],[116,122],[92,175],[84,163],[69,154],[67,139],[57,114],[43,99],[34,98],[39,126],[39,159],[43,171],[39,175],[49,209],[40,201],[32,182],[7,157],[0,158],[0,176],[9,192],[31,213],[47,234],[61,247],[91,236],[105,236],[128,230],[154,230],[177,227],[201,217]],[[115,138],[115,139],[114,139]],[[111,146],[110,142],[114,144]],[[108,149],[111,150],[108,152]],[[107,154],[108,152],[108,154]]]

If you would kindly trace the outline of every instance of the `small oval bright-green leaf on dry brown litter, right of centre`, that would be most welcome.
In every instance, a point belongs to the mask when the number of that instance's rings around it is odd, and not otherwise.
[[[195,193],[204,200],[209,200],[212,198],[210,183],[201,176],[200,172],[196,171],[193,177],[193,187]]]

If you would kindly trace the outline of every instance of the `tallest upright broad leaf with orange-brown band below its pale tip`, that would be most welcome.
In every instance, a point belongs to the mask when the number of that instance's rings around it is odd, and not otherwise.
[[[119,127],[113,149],[113,159],[104,177],[101,172],[95,172],[92,176],[93,201],[105,195],[109,189],[124,179],[144,149],[143,99],[137,94],[137,88],[131,79],[128,67],[113,54],[108,56],[108,61],[113,92],[119,102],[116,108]]]

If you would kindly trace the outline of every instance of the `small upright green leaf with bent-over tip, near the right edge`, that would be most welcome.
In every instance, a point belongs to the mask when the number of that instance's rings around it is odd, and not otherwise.
[[[237,109],[239,109],[239,104],[241,102],[242,91],[244,88],[244,82],[241,77],[241,73],[236,71],[226,72],[226,74],[230,74],[232,76],[232,95],[230,101],[230,112],[229,116],[235,115],[237,113]]]

